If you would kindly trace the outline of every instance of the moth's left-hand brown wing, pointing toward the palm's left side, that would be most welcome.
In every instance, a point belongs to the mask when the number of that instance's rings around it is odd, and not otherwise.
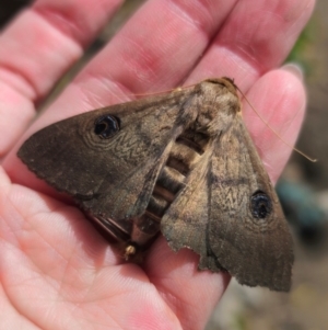
[[[55,123],[30,137],[19,157],[93,215],[140,215],[171,143],[188,124],[188,111],[179,105],[187,94],[188,90],[118,104]],[[120,129],[99,138],[95,122],[105,115],[115,117]]]

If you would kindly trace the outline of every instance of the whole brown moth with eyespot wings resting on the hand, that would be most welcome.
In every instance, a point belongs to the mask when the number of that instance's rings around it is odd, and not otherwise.
[[[138,253],[162,231],[198,268],[289,291],[293,244],[229,78],[52,124],[19,157]]]

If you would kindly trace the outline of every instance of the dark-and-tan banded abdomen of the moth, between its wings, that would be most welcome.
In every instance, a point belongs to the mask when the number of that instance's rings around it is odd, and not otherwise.
[[[209,139],[207,135],[191,129],[178,136],[156,180],[145,213],[133,221],[132,242],[147,244],[160,232],[163,215],[185,186],[186,178],[202,157]]]

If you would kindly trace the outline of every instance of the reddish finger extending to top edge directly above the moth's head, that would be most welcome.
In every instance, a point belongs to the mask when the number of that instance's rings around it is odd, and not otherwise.
[[[314,4],[315,0],[238,1],[188,82],[231,77],[246,92],[285,59]]]

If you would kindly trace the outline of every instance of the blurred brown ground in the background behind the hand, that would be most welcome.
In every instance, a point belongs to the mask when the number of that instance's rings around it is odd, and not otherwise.
[[[31,1],[1,0],[0,26],[3,27],[28,2]],[[54,100],[62,87],[110,39],[142,2],[143,0],[126,1],[85,57],[58,83],[51,98],[45,100],[43,106]],[[233,281],[206,330],[328,329],[327,13],[328,1],[317,0],[312,20],[288,59],[303,68],[308,90],[308,112],[297,147],[319,159],[319,162],[312,163],[294,155],[282,175],[282,202],[289,208],[289,219],[295,238],[296,261],[292,291],[290,294],[277,294],[263,288],[244,287]],[[301,207],[307,204],[311,212]]]

